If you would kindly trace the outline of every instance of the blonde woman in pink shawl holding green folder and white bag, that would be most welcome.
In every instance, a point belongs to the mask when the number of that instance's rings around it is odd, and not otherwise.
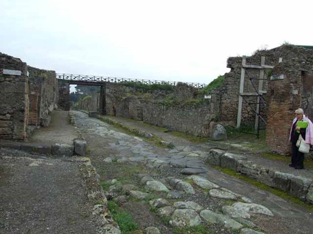
[[[291,141],[292,157],[290,167],[295,169],[304,169],[303,160],[304,153],[299,151],[296,146],[297,140],[301,134],[306,143],[313,144],[313,124],[310,119],[306,118],[301,108],[295,110],[295,119],[292,122],[289,140]],[[300,128],[297,126],[298,121],[308,122],[307,128]],[[299,133],[297,131],[300,131]]]

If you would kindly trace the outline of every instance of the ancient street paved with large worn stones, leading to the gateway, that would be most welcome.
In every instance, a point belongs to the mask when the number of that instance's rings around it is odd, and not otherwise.
[[[240,233],[254,233],[244,232],[244,226],[263,233],[311,233],[309,210],[206,165],[207,151],[201,146],[157,147],[83,112],[71,115],[87,141],[88,157],[101,183],[110,185],[103,186],[107,197],[131,212],[141,230],[155,226],[161,233],[174,233],[173,228],[181,227],[179,223],[196,222],[212,233],[237,233],[240,229]],[[202,180],[210,186],[199,182]],[[149,205],[139,199],[147,195],[167,199],[168,203],[156,205],[152,200]],[[176,204],[179,201],[196,202],[201,208],[184,205],[192,215],[181,214],[182,206]],[[245,209],[243,204],[261,205],[262,209]],[[167,208],[172,212],[164,215],[164,207],[174,208]],[[244,214],[233,213],[239,210]],[[164,217],[169,222],[164,222]]]

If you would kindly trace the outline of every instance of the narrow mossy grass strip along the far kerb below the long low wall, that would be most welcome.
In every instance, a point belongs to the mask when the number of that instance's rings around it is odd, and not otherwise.
[[[136,137],[141,137],[143,139],[145,139],[146,141],[149,141],[151,142],[153,145],[157,146],[157,147],[163,147],[163,148],[174,148],[173,144],[169,144],[169,145],[166,145],[166,144],[162,144],[161,142],[164,140],[159,138],[159,137],[156,137],[155,135],[152,135],[151,137],[146,137],[144,133],[142,133],[140,130],[136,129],[136,128],[131,128],[125,124],[121,124],[121,123],[118,123],[116,121],[113,121],[111,119],[108,119],[108,118],[99,118],[102,122],[105,122],[107,124],[110,124],[112,125],[113,127],[115,127],[116,129],[119,129],[129,135],[133,135],[133,136],[136,136]]]

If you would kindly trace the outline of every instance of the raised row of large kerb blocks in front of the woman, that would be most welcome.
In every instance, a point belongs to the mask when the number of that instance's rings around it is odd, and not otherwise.
[[[273,171],[248,161],[244,156],[227,153],[220,149],[211,149],[205,162],[223,168],[230,168],[270,187],[289,192],[291,196],[298,197],[304,202],[313,204],[313,182],[310,179]]]

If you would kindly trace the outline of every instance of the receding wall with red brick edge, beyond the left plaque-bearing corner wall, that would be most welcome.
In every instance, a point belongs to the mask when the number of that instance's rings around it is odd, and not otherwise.
[[[48,126],[50,113],[56,107],[58,83],[55,71],[28,66],[29,71],[29,124]]]

